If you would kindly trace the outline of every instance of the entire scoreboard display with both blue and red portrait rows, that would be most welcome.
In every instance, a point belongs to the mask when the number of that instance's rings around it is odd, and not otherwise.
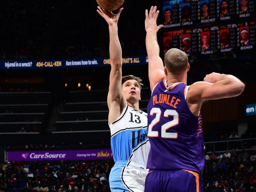
[[[255,48],[255,0],[163,2],[163,50],[202,55]]]

